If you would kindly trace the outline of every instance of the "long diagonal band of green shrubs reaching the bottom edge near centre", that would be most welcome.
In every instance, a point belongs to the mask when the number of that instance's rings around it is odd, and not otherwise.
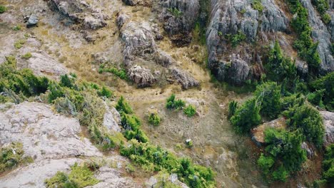
[[[130,145],[121,147],[121,155],[148,170],[166,170],[178,174],[178,179],[190,187],[213,187],[215,174],[210,168],[193,164],[187,158],[178,159],[171,152],[148,143],[131,140]]]

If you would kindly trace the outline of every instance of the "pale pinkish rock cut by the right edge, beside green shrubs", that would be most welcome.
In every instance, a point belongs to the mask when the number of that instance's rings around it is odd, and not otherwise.
[[[325,126],[325,137],[323,138],[324,145],[334,143],[334,113],[328,111],[320,111],[323,116],[323,125]]]

